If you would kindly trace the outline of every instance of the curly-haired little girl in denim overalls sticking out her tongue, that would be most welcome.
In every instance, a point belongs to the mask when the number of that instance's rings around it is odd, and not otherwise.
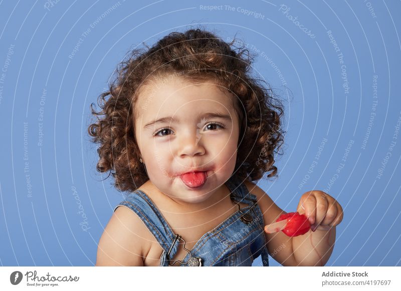
[[[303,235],[268,233],[286,212],[254,182],[274,176],[283,142],[281,103],[251,77],[251,57],[204,29],[172,32],[134,49],[99,96],[89,127],[97,170],[129,194],[100,238],[96,265],[324,265],[340,204],[308,191]],[[106,96],[109,98],[106,99]],[[273,102],[276,101],[276,102]],[[123,206],[123,207],[119,207]]]

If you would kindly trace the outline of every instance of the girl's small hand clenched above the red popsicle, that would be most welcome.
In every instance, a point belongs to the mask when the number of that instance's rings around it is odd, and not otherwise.
[[[339,224],[344,216],[337,200],[318,190],[305,192],[299,199],[297,211],[309,218],[312,231],[329,230]]]

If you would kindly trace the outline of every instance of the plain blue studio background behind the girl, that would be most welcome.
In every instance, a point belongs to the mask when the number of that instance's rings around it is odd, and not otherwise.
[[[89,105],[130,48],[203,23],[224,40],[237,33],[258,53],[255,74],[284,100],[279,176],[258,185],[288,212],[311,189],[340,202],[344,219],[327,265],[400,265],[401,3],[282,3],[1,1],[0,264],[95,264],[123,195],[95,169]]]

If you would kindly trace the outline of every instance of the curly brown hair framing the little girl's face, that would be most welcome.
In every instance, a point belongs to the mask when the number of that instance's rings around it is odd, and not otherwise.
[[[227,43],[201,28],[171,32],[152,47],[145,44],[146,49],[130,50],[117,65],[109,89],[98,97],[101,110],[90,105],[97,119],[88,128],[92,141],[99,144],[96,169],[110,171],[117,190],[134,191],[149,179],[139,162],[134,131],[140,89],[151,79],[176,73],[192,82],[212,80],[236,100],[240,137],[234,173],[250,181],[259,180],[265,172],[270,172],[267,177],[277,175],[274,152],[283,143],[283,106],[270,85],[266,88],[265,81],[250,75],[253,56],[249,50],[234,43],[238,43],[235,38]]]

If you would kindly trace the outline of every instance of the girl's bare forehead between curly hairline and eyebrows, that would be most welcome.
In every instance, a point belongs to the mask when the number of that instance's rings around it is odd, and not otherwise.
[[[136,119],[150,121],[164,116],[195,116],[194,112],[234,114],[234,95],[212,80],[195,83],[181,77],[150,81],[139,93]]]

